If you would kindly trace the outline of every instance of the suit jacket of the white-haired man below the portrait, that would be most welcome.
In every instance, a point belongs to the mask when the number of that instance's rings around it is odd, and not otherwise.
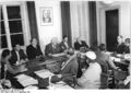
[[[52,44],[48,44],[46,45],[46,49],[45,49],[45,55],[46,56],[49,56],[49,54],[59,54],[59,53],[62,53],[61,48],[59,45],[55,47],[52,47]]]

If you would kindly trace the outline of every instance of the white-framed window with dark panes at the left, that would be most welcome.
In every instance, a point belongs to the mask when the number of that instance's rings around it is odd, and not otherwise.
[[[1,47],[12,49],[15,44],[26,45],[25,18],[23,4],[0,4],[0,39]]]

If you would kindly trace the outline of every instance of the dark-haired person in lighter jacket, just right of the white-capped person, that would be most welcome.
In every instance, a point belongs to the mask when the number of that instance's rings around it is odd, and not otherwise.
[[[118,67],[116,67],[116,65],[114,63],[114,61],[110,58],[110,55],[106,54],[106,46],[105,44],[100,44],[99,45],[99,53],[97,54],[97,59],[108,62],[108,65],[112,68],[112,69],[118,69]]]

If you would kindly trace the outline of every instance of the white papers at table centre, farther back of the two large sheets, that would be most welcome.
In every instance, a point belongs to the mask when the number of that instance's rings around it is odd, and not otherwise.
[[[55,75],[53,73],[51,73],[51,72],[48,71],[48,70],[35,71],[35,73],[36,73],[38,77],[43,78],[43,79]]]

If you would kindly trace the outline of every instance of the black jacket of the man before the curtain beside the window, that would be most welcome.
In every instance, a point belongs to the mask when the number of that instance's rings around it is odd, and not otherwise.
[[[39,46],[37,46],[37,48],[35,48],[32,45],[27,46],[26,54],[27,54],[28,59],[35,59],[36,56],[43,55]]]

